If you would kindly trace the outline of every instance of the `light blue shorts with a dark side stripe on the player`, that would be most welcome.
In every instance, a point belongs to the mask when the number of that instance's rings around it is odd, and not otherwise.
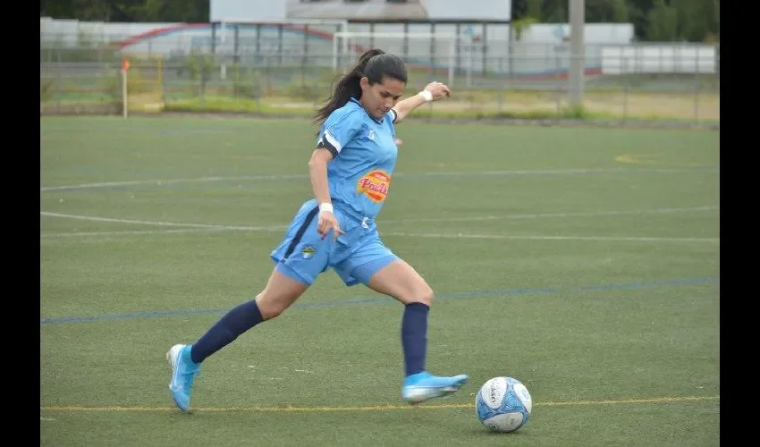
[[[369,278],[399,257],[383,245],[374,221],[356,219],[334,203],[334,214],[344,232],[333,240],[332,232],[323,240],[317,232],[317,200],[304,203],[293,218],[285,237],[270,257],[277,271],[311,285],[317,276],[332,267],[347,286],[367,284]]]

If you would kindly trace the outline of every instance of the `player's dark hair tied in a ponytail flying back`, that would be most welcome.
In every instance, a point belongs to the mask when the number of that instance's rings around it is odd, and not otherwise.
[[[370,85],[382,82],[385,77],[406,82],[407,70],[403,61],[396,55],[385,53],[377,48],[367,51],[359,57],[359,63],[338,80],[333,95],[314,114],[314,122],[322,124],[335,110],[346,105],[351,97],[359,99],[361,97],[359,80],[365,76]]]

